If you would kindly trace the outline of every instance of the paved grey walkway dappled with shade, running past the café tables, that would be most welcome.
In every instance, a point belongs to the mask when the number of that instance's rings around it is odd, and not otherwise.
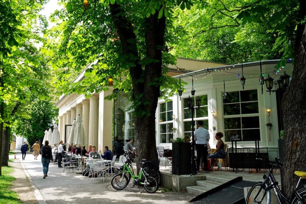
[[[13,155],[10,155],[12,158]],[[21,153],[17,153],[21,159]],[[48,177],[43,179],[41,156],[34,160],[32,154],[27,153],[25,160],[21,161],[25,172],[35,189],[35,197],[39,203],[188,203],[195,195],[187,192],[161,192],[150,194],[142,187],[130,188],[129,184],[124,190],[116,191],[110,185],[110,178],[105,182],[94,178],[68,172],[57,165],[50,163]]]

